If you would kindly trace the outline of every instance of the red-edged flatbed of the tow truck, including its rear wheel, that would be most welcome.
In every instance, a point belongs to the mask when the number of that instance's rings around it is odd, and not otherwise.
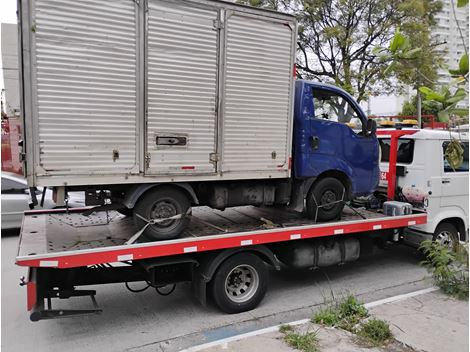
[[[100,313],[95,290],[77,286],[146,282],[159,291],[192,282],[202,304],[208,293],[227,313],[255,308],[266,288],[267,265],[314,268],[358,259],[371,238],[397,239],[426,214],[387,216],[345,208],[341,219],[314,223],[277,208],[195,208],[178,239],[138,243],[130,218],[84,209],[25,213],[16,264],[29,268],[27,308],[32,321]],[[137,240],[136,240],[137,239]],[[53,309],[52,298],[90,296],[92,308]]]

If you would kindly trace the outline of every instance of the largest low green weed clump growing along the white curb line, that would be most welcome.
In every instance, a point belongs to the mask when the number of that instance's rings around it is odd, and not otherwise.
[[[341,301],[333,302],[315,313],[312,322],[354,332],[355,326],[368,315],[364,305],[353,295],[348,295]]]

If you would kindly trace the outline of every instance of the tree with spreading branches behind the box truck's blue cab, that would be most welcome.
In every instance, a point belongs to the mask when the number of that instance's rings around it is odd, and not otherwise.
[[[436,0],[239,0],[296,15],[299,22],[298,75],[334,83],[360,102],[369,94],[397,89],[386,60],[374,53],[390,42],[398,26],[422,21]],[[410,10],[411,9],[411,10]],[[431,15],[433,12],[431,13]]]

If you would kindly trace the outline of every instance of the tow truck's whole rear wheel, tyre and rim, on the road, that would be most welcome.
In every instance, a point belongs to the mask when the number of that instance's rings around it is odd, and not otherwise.
[[[225,313],[256,308],[266,294],[268,269],[251,253],[235,254],[224,261],[210,282],[215,304]]]

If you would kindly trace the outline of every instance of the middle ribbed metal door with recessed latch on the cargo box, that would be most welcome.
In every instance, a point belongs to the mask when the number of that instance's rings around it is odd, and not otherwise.
[[[216,171],[219,12],[149,1],[145,173]]]

